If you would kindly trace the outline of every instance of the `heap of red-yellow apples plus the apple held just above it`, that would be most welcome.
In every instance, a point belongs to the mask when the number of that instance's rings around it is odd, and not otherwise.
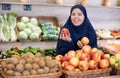
[[[106,69],[110,66],[110,59],[102,50],[91,48],[89,39],[84,37],[81,43],[85,43],[81,50],[70,50],[64,56],[57,55],[56,60],[60,62],[61,68],[68,71],[85,71],[94,69]]]

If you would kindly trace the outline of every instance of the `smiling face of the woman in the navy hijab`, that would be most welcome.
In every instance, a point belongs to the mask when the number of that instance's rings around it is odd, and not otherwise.
[[[83,12],[79,8],[74,9],[71,13],[71,21],[75,26],[81,25],[84,18]]]

